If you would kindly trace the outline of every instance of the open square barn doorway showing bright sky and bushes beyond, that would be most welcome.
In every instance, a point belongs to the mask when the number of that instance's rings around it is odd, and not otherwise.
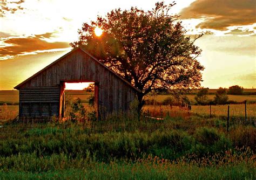
[[[98,84],[96,82],[62,81],[60,93],[61,117],[98,117]]]

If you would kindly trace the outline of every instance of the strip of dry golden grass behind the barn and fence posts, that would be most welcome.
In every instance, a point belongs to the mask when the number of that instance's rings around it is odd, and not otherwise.
[[[91,112],[93,107],[87,103],[83,103],[86,112]],[[228,105],[216,105],[212,106],[212,115],[215,116],[226,116]],[[14,119],[18,115],[18,106],[16,105],[5,105],[0,106],[0,122]],[[70,109],[66,109],[66,116]],[[192,113],[200,115],[210,115],[210,106],[192,106],[191,112],[188,112],[187,108],[180,108],[178,106],[156,106],[156,105],[145,105],[143,111],[146,114],[150,114],[153,117],[163,118],[165,116],[170,117],[190,117]],[[256,117],[256,104],[247,104],[247,118],[252,119]],[[230,105],[230,116],[245,116],[245,105],[237,104]]]

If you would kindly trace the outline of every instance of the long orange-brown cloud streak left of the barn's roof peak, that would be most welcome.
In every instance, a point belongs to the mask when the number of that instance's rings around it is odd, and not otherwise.
[[[20,54],[51,50],[51,49],[63,49],[69,47],[69,43],[66,42],[53,42],[49,43],[42,38],[49,38],[52,33],[38,34],[35,36],[29,36],[25,38],[3,38],[3,43],[11,44],[11,46],[1,47],[0,57],[17,56]]]

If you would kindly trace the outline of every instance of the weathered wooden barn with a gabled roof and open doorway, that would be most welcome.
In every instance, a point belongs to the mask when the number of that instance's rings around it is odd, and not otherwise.
[[[81,48],[72,50],[14,87],[19,90],[19,118],[64,115],[65,82],[95,82],[98,118],[122,110],[137,98],[137,88]]]

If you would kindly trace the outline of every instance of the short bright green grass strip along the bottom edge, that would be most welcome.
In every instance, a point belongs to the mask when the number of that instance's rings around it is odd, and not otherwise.
[[[2,179],[255,179],[253,163],[220,168],[176,164],[84,164],[83,169],[1,172]]]

